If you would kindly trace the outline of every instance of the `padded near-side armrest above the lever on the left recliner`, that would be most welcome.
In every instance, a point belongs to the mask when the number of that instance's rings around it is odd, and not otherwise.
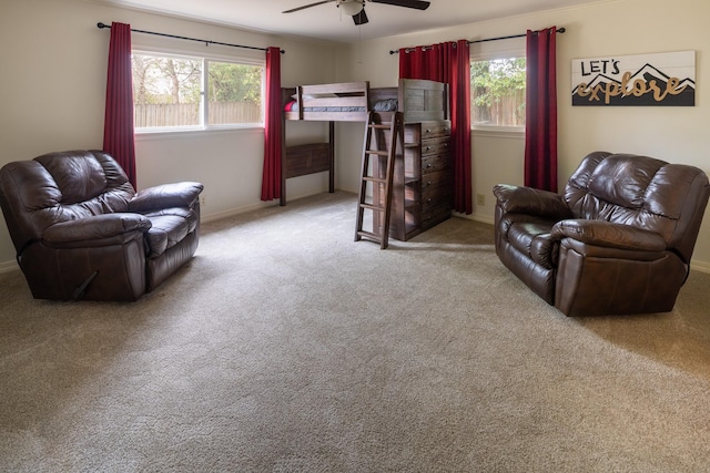
[[[54,224],[44,230],[42,238],[50,244],[90,241],[135,230],[143,233],[150,227],[151,220],[140,214],[103,214]]]

